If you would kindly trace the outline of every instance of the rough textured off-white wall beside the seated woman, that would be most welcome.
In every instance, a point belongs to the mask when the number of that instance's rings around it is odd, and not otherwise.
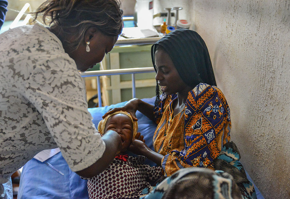
[[[290,1],[158,4],[188,5],[230,105],[242,164],[265,198],[290,198]]]

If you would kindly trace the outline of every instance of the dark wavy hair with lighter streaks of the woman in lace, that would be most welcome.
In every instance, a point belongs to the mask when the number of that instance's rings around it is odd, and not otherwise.
[[[42,14],[59,37],[74,35],[73,42],[62,38],[71,51],[84,42],[88,28],[94,27],[107,36],[119,36],[123,29],[123,10],[119,0],[47,0],[34,12],[37,18]],[[48,21],[48,18],[50,21]]]

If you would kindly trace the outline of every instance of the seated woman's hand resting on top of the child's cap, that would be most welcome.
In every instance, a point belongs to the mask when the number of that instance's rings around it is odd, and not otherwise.
[[[128,101],[126,104],[124,104],[123,106],[121,106],[121,107],[116,107],[116,108],[110,109],[108,112],[106,112],[103,115],[103,119],[106,116],[108,116],[109,114],[112,114],[114,112],[117,112],[117,111],[126,111],[126,112],[128,112],[128,113],[131,114],[132,119],[134,121],[138,121],[138,119],[136,117],[136,111],[138,110],[138,105],[139,105],[139,99],[133,98],[130,101]]]

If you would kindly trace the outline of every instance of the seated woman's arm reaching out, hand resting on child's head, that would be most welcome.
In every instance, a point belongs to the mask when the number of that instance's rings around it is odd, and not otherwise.
[[[136,117],[136,111],[140,111],[142,114],[144,114],[146,117],[154,121],[154,106],[151,104],[148,104],[138,98],[133,98],[130,101],[128,101],[126,104],[124,104],[121,107],[116,107],[104,114],[103,118],[105,118],[107,115],[112,114],[116,111],[127,111],[131,114],[134,121],[137,121]]]

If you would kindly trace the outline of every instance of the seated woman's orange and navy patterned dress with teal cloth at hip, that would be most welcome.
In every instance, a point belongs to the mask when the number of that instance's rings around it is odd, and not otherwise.
[[[184,109],[173,116],[177,95],[164,96],[155,107],[158,123],[153,146],[164,155],[165,176],[188,167],[222,170],[233,176],[244,198],[256,198],[253,183],[240,163],[240,153],[230,142],[230,108],[218,87],[200,83],[188,93]]]

